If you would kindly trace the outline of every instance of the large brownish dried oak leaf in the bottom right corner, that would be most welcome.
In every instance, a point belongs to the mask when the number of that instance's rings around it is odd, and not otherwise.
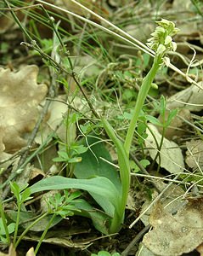
[[[149,223],[154,227],[144,236],[144,246],[155,255],[178,256],[192,252],[203,241],[203,197],[188,198],[172,215],[158,202]]]

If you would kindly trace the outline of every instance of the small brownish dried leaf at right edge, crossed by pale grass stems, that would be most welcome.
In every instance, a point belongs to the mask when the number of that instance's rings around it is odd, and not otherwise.
[[[192,139],[186,142],[188,150],[186,151],[185,162],[190,168],[194,170],[203,168],[203,141]]]

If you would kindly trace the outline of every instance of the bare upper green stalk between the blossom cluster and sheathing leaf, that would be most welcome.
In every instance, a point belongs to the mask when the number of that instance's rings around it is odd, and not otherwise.
[[[124,144],[124,147],[127,152],[127,157],[129,157],[130,148],[131,148],[131,144],[133,141],[133,134],[134,134],[137,122],[138,122],[138,116],[140,114],[141,109],[143,108],[144,101],[149,92],[149,88],[150,88],[153,80],[155,79],[155,74],[157,73],[159,67],[160,67],[160,61],[158,61],[157,58],[155,58],[154,63],[152,65],[151,69],[149,70],[149,73],[143,79],[143,84],[141,85],[140,90],[138,92],[138,99],[137,99],[135,108],[133,109],[133,118],[131,119],[130,125],[128,127],[127,137],[126,137],[125,144]]]

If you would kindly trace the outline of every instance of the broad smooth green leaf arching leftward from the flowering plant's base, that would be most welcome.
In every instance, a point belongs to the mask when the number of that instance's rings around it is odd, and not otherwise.
[[[95,201],[103,207],[111,217],[114,216],[115,208],[120,206],[121,196],[115,185],[106,177],[93,177],[90,179],[76,179],[69,177],[47,177],[30,187],[31,194],[51,189],[83,189],[87,192],[99,195]],[[101,204],[99,203],[101,201]],[[106,201],[106,204],[104,202]]]

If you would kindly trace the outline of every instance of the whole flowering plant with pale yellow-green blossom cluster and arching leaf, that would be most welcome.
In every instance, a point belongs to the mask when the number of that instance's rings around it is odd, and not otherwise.
[[[172,36],[178,32],[172,21],[164,20],[157,21],[158,26],[153,32],[152,38],[148,40],[149,48],[155,50],[155,59],[149,73],[143,80],[143,84],[138,92],[138,99],[133,109],[133,118],[130,122],[125,143],[116,136],[116,132],[110,125],[107,119],[101,119],[104,130],[115,144],[118,155],[118,166],[120,169],[121,189],[118,189],[107,177],[92,177],[92,178],[69,178],[69,177],[48,177],[31,186],[31,194],[49,189],[83,189],[86,190],[93,199],[97,201],[100,207],[104,210],[107,218],[97,229],[104,232],[103,228],[106,225],[108,234],[116,233],[121,230],[125,217],[125,208],[127,205],[127,195],[130,189],[130,160],[129,152],[133,141],[133,134],[138,122],[138,116],[144,106],[144,101],[149,92],[150,86],[153,84],[155,74],[164,62],[169,63],[166,58],[167,51],[176,49],[176,44],[172,41]],[[87,206],[82,206],[84,210]],[[89,206],[88,206],[89,207]],[[89,208],[90,209],[90,208]],[[91,216],[90,216],[91,218]]]

